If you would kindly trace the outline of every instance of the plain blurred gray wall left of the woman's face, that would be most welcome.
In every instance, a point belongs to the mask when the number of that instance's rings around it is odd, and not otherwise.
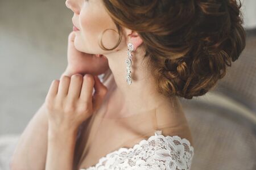
[[[0,1],[0,134],[21,133],[67,66],[65,1]]]

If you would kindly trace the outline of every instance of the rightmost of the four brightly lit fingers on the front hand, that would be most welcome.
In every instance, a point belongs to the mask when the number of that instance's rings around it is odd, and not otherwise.
[[[84,102],[92,101],[92,92],[94,86],[94,78],[90,74],[84,75],[82,82],[82,88],[80,93],[80,99]]]

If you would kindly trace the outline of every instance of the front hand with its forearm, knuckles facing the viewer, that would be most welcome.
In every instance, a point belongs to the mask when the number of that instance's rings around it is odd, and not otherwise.
[[[96,90],[94,95],[93,87]],[[72,169],[79,125],[100,107],[106,92],[107,88],[100,79],[90,74],[75,74],[71,78],[64,75],[60,80],[53,80],[46,96],[46,170]]]

